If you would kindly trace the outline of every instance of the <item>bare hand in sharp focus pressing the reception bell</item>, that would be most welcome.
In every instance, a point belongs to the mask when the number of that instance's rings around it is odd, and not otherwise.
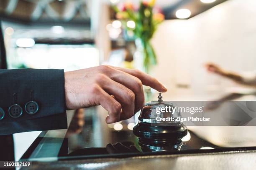
[[[132,117],[143,106],[142,85],[167,91],[158,80],[139,70],[101,65],[65,72],[66,106],[74,110],[102,105],[109,112],[106,122],[118,122]]]

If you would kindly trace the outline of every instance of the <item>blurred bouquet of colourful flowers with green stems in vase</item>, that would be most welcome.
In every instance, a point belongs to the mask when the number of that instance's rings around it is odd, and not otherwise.
[[[160,9],[154,8],[155,0],[141,1],[138,9],[132,3],[125,3],[121,8],[114,6],[116,18],[124,23],[127,30],[133,34],[142,47],[143,67],[149,73],[152,65],[157,63],[154,48],[150,40],[157,29],[157,26],[164,20]]]

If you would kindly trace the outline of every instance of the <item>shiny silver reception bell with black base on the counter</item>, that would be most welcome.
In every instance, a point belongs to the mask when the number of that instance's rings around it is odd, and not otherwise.
[[[176,117],[181,117],[181,114],[174,107],[172,102],[162,100],[161,93],[158,100],[147,102],[143,106],[138,122],[133,128],[143,151],[181,148],[182,138],[187,135],[187,127],[176,121]]]

